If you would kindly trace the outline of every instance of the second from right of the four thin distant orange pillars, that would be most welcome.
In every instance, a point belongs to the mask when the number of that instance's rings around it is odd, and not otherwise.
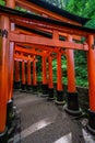
[[[27,91],[32,89],[32,78],[31,78],[31,61],[27,61]]]

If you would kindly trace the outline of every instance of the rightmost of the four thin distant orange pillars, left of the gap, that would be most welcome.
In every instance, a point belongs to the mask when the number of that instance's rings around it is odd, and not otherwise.
[[[33,61],[33,91],[37,91],[36,58]]]

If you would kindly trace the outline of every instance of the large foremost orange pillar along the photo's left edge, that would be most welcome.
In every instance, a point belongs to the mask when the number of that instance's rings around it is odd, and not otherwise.
[[[9,63],[9,18],[0,15],[0,143],[8,143],[7,103],[8,103],[8,63]]]

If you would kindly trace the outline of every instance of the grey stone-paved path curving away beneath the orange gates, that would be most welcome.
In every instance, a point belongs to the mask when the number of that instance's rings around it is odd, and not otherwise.
[[[22,143],[95,143],[86,131],[86,119],[75,120],[63,107],[19,91],[14,92],[14,102],[21,110]]]

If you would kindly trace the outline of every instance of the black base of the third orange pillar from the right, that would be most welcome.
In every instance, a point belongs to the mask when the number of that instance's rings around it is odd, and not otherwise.
[[[66,101],[63,99],[63,91],[57,90],[56,103],[59,105],[59,106],[63,106],[66,103]]]

